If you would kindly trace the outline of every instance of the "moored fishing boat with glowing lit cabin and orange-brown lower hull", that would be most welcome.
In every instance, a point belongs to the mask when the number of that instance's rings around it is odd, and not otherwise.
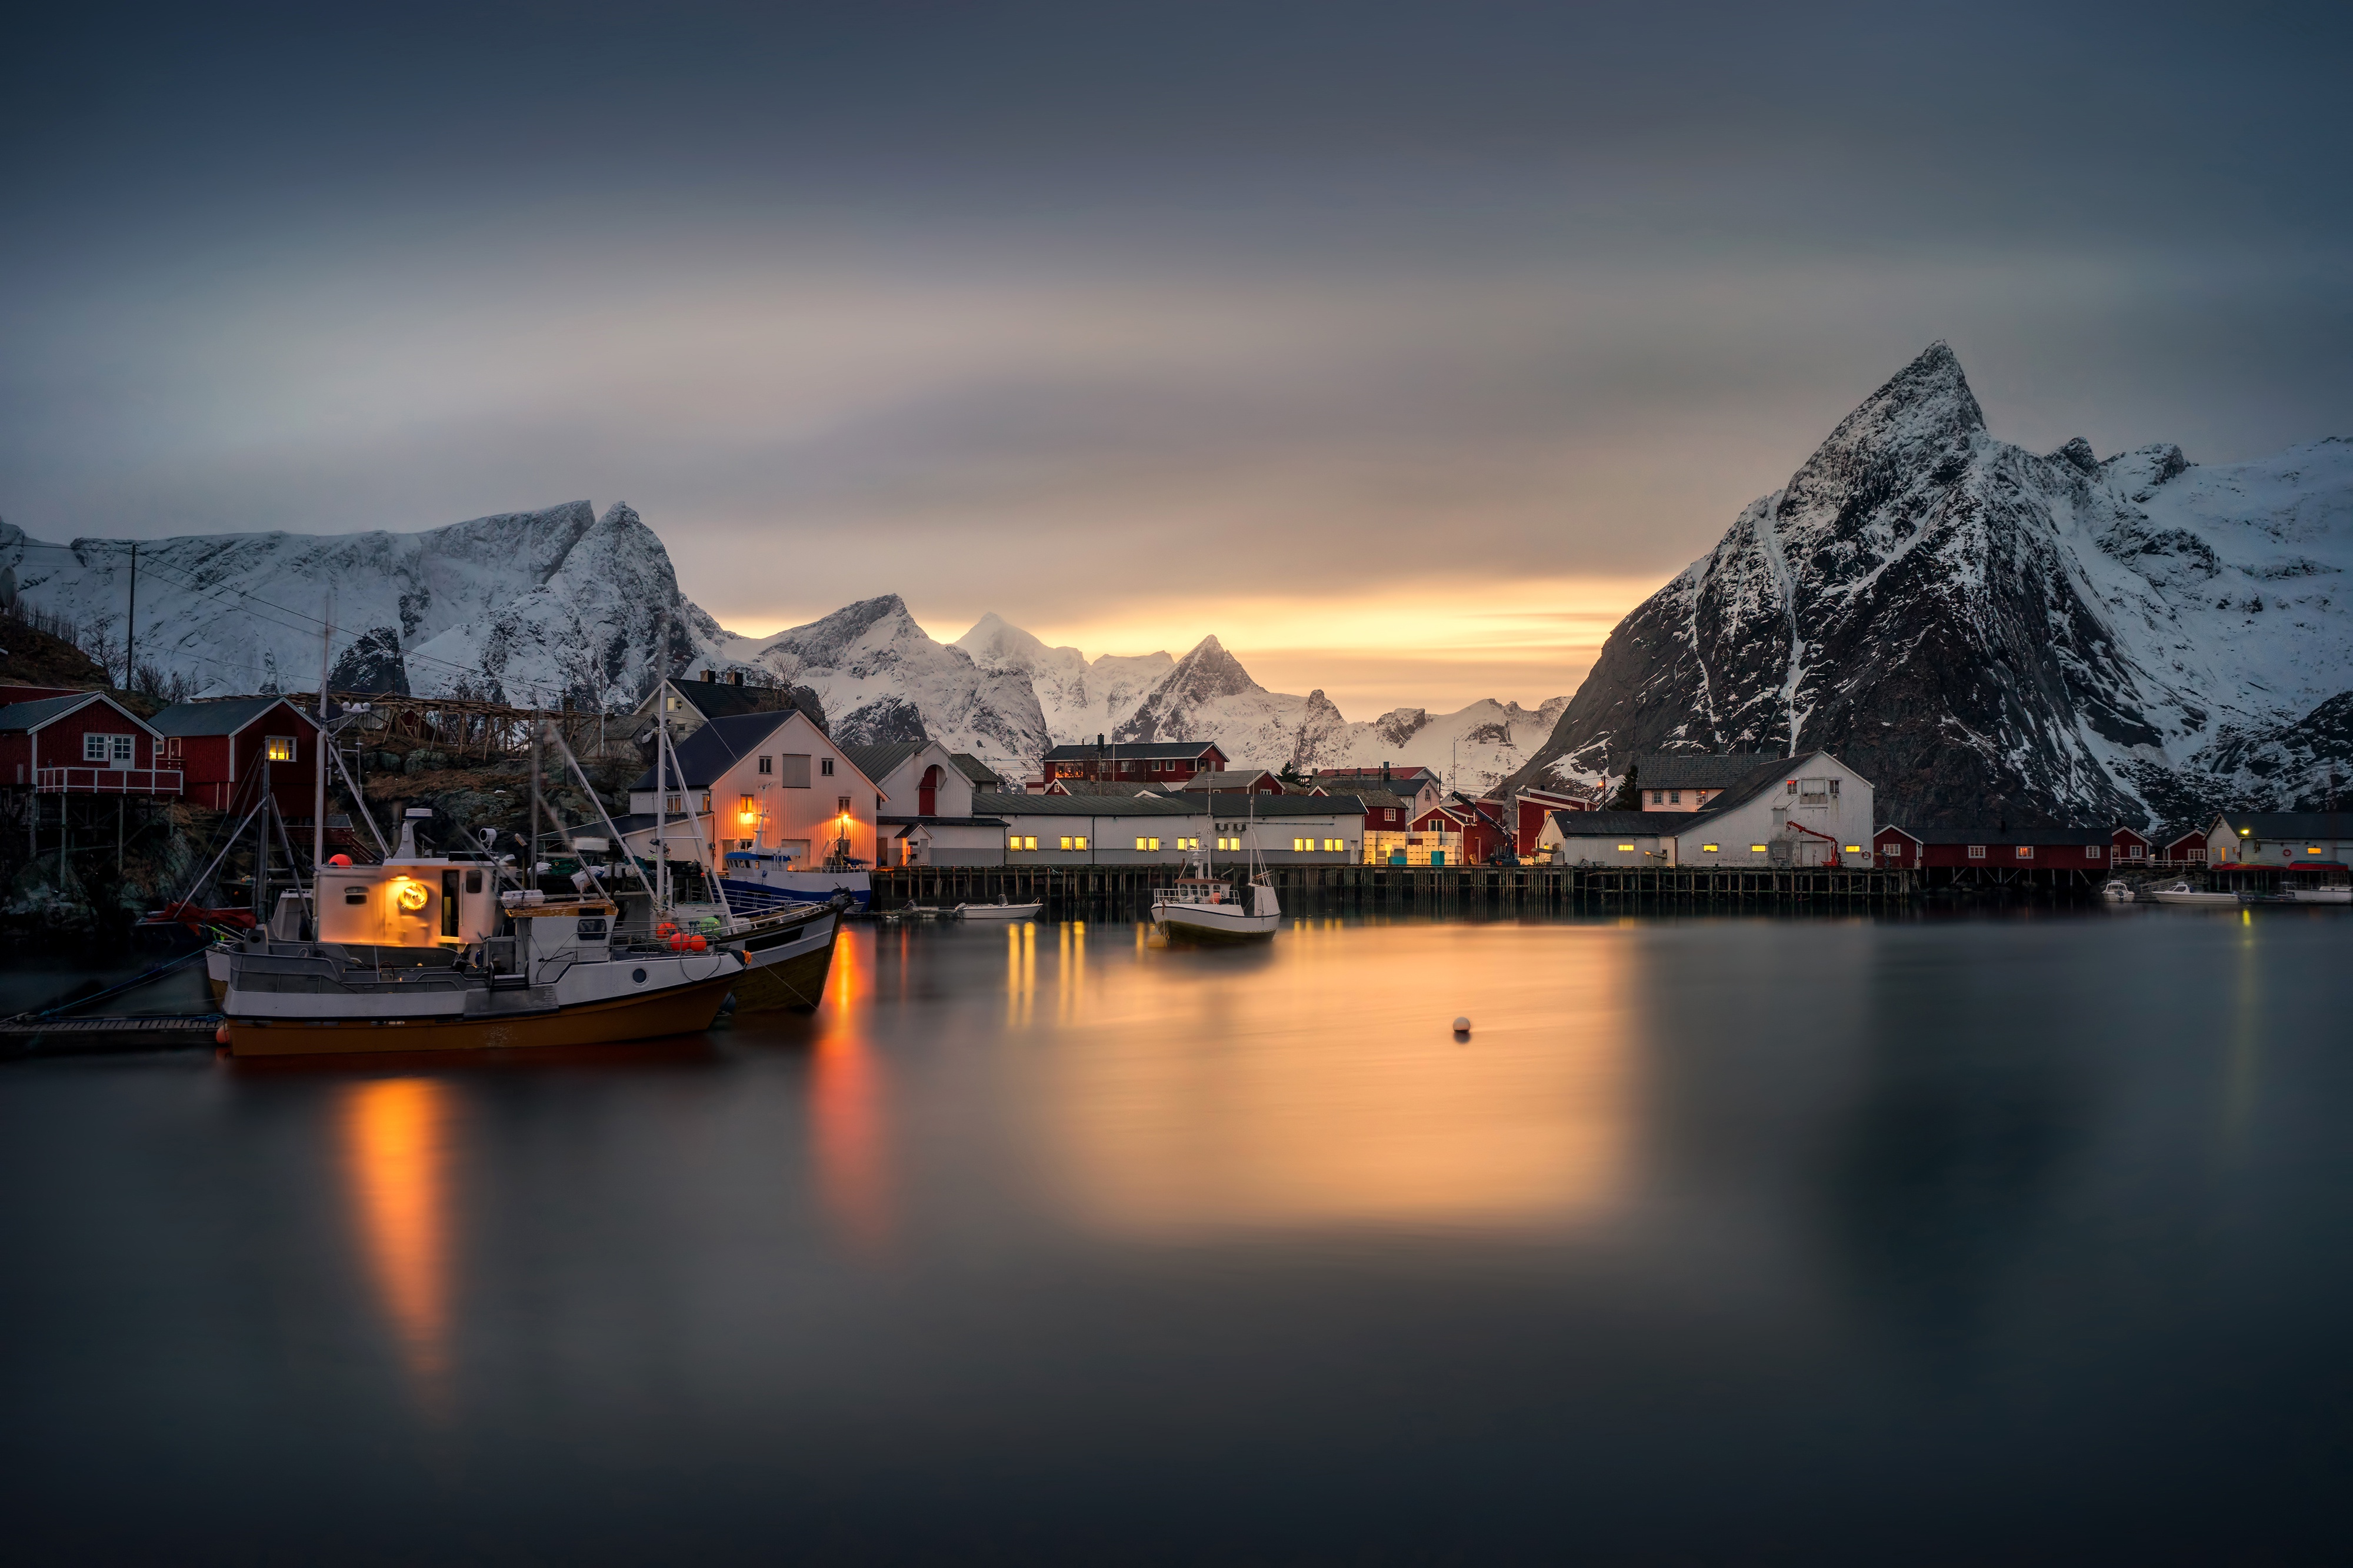
[[[628,942],[602,892],[501,885],[487,855],[416,850],[320,866],[318,939],[268,925],[226,949],[233,1055],[602,1045],[711,1026],[744,954],[671,932]]]

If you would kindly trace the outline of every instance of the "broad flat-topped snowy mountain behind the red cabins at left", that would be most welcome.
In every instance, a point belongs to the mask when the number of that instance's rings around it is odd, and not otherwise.
[[[132,542],[45,544],[0,523],[0,567],[85,640],[122,647]],[[315,690],[332,614],[334,685],[626,704],[671,622],[673,666],[722,638],[682,600],[635,511],[588,501],[419,534],[184,534],[139,542],[136,657],[198,695]]]

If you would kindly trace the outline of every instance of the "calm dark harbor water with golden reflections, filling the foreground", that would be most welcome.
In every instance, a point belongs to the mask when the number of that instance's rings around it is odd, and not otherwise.
[[[861,928],[671,1045],[7,1064],[9,1556],[2346,1561],[2348,954]]]

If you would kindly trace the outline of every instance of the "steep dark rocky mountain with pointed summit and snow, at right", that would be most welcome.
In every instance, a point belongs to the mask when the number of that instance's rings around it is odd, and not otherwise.
[[[2313,805],[2348,768],[2353,443],[1995,440],[1929,346],[1628,614],[1522,777],[1828,746],[1913,822]]]

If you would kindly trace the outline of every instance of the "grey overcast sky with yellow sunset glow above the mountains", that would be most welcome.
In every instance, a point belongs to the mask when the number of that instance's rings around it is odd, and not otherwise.
[[[765,633],[1567,692],[1948,339],[1998,436],[2353,436],[2346,7],[52,7],[0,518],[633,504]]]

